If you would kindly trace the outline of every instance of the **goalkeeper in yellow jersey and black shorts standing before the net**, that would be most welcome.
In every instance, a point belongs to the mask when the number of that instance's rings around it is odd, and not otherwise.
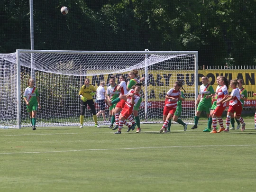
[[[86,78],[84,80],[84,85],[81,87],[79,91],[79,96],[81,98],[81,115],[80,115],[80,128],[82,128],[83,125],[83,119],[84,119],[84,113],[85,113],[85,107],[89,105],[93,120],[95,123],[95,127],[100,128],[97,122],[97,115],[95,110],[95,105],[93,102],[92,97],[96,94],[96,89],[93,85],[90,84],[90,79]]]

